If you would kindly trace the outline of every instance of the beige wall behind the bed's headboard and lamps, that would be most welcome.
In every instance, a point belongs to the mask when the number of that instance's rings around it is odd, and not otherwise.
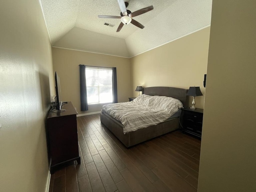
[[[135,56],[130,59],[133,96],[135,88],[172,86],[188,89],[203,86],[207,69],[210,27]],[[192,97],[188,97],[191,106]],[[196,97],[196,107],[204,108],[204,96]]]

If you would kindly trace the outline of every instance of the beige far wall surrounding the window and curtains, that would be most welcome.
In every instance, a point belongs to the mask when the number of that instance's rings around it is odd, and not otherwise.
[[[116,67],[118,102],[127,102],[130,91],[130,62],[128,58],[52,48],[53,69],[60,77],[63,101],[71,101],[78,114],[100,112],[102,104],[89,105],[86,112],[80,111],[79,64]],[[55,94],[54,94],[55,95]]]

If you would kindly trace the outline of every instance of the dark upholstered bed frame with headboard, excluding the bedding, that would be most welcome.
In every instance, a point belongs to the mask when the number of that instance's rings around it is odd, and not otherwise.
[[[186,89],[174,87],[148,87],[143,88],[143,94],[149,96],[167,96],[180,100],[185,106],[186,104]],[[127,148],[150,140],[157,136],[177,130],[179,128],[179,116],[174,116],[168,120],[154,126],[148,126],[143,129],[138,129],[133,132],[124,134],[122,123],[104,112],[101,111],[100,121],[104,124]]]

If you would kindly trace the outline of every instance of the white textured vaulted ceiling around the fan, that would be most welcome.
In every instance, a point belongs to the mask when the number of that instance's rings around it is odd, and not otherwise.
[[[124,25],[117,0],[40,0],[52,46],[130,58],[210,25],[212,0],[125,0],[131,12],[154,10],[134,17],[145,26]],[[104,22],[114,25],[104,25]]]

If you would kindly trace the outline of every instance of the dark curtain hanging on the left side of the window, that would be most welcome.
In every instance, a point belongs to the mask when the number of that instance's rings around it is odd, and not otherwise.
[[[86,78],[85,78],[85,65],[79,65],[79,69],[80,69],[81,111],[88,111],[87,92],[86,92]]]

